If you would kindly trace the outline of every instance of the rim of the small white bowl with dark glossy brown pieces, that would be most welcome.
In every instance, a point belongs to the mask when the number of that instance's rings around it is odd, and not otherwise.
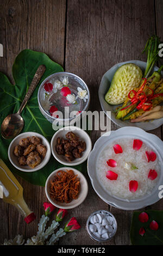
[[[71,129],[74,129],[74,131],[75,131],[75,130],[82,131],[82,132],[87,136],[87,143],[90,145],[90,150],[88,151],[88,153],[86,154],[86,156],[85,156],[85,157],[81,157],[81,158],[79,159],[79,161],[77,161],[77,162],[75,162],[75,163],[73,163],[73,162],[70,162],[70,163],[69,163],[69,162],[60,160],[59,157],[57,156],[57,154],[55,154],[55,152],[54,152],[54,150],[53,150],[53,141],[54,141],[54,138],[57,137],[57,135],[58,135],[58,133],[59,133],[60,131],[65,130],[65,128],[68,129],[67,132],[70,131]],[[51,150],[52,150],[52,155],[54,156],[54,158],[55,158],[58,162],[60,162],[61,164],[64,164],[64,165],[67,165],[67,166],[77,166],[78,164],[83,163],[84,161],[86,161],[87,158],[89,157],[89,154],[90,154],[90,152],[91,152],[91,150],[92,150],[92,141],[91,141],[90,136],[87,134],[87,132],[84,131],[82,128],[77,127],[77,126],[65,126],[65,127],[60,128],[57,132],[54,133],[54,135],[53,135],[53,137],[52,137],[52,140],[51,140]]]

